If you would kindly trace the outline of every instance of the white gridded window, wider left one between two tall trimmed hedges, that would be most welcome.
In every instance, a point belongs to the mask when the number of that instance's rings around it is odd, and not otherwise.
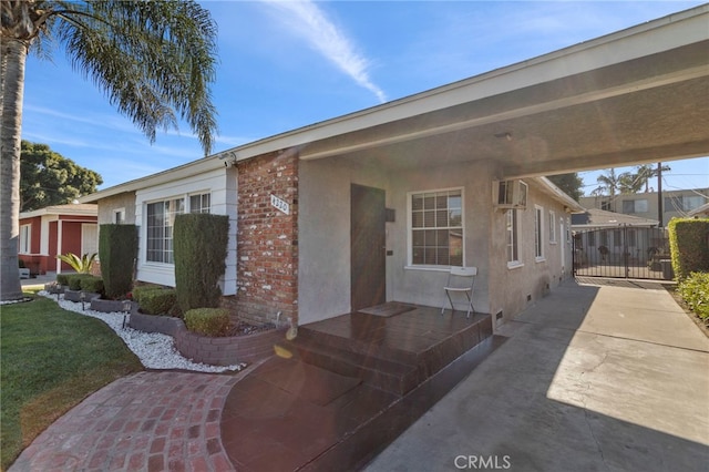
[[[175,216],[185,213],[185,199],[174,198],[147,204],[147,253],[150,263],[174,264],[173,227]]]

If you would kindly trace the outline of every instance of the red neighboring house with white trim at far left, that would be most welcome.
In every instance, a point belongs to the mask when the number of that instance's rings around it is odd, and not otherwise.
[[[71,270],[56,258],[99,252],[97,206],[54,205],[20,213],[19,257],[33,275]]]

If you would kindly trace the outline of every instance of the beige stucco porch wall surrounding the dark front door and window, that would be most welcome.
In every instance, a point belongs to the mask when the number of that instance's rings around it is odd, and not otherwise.
[[[348,160],[300,163],[299,311],[307,324],[350,311],[350,185],[383,188],[395,212],[387,230],[387,299],[439,307],[446,269],[408,266],[409,193],[462,187],[465,264],[481,271],[475,308],[487,310],[487,222],[492,166],[386,170]]]

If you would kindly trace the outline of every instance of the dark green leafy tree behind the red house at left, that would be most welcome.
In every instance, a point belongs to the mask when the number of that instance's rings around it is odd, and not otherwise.
[[[71,203],[96,192],[101,175],[76,165],[47,144],[22,141],[20,154],[20,212]]]

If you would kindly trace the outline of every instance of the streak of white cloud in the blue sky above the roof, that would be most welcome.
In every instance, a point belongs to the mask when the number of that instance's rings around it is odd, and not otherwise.
[[[383,103],[384,92],[369,78],[369,61],[359,54],[354,44],[332,23],[326,13],[310,0],[279,1],[261,0],[292,14],[289,24],[312,48],[352,78],[360,86],[372,92]]]

